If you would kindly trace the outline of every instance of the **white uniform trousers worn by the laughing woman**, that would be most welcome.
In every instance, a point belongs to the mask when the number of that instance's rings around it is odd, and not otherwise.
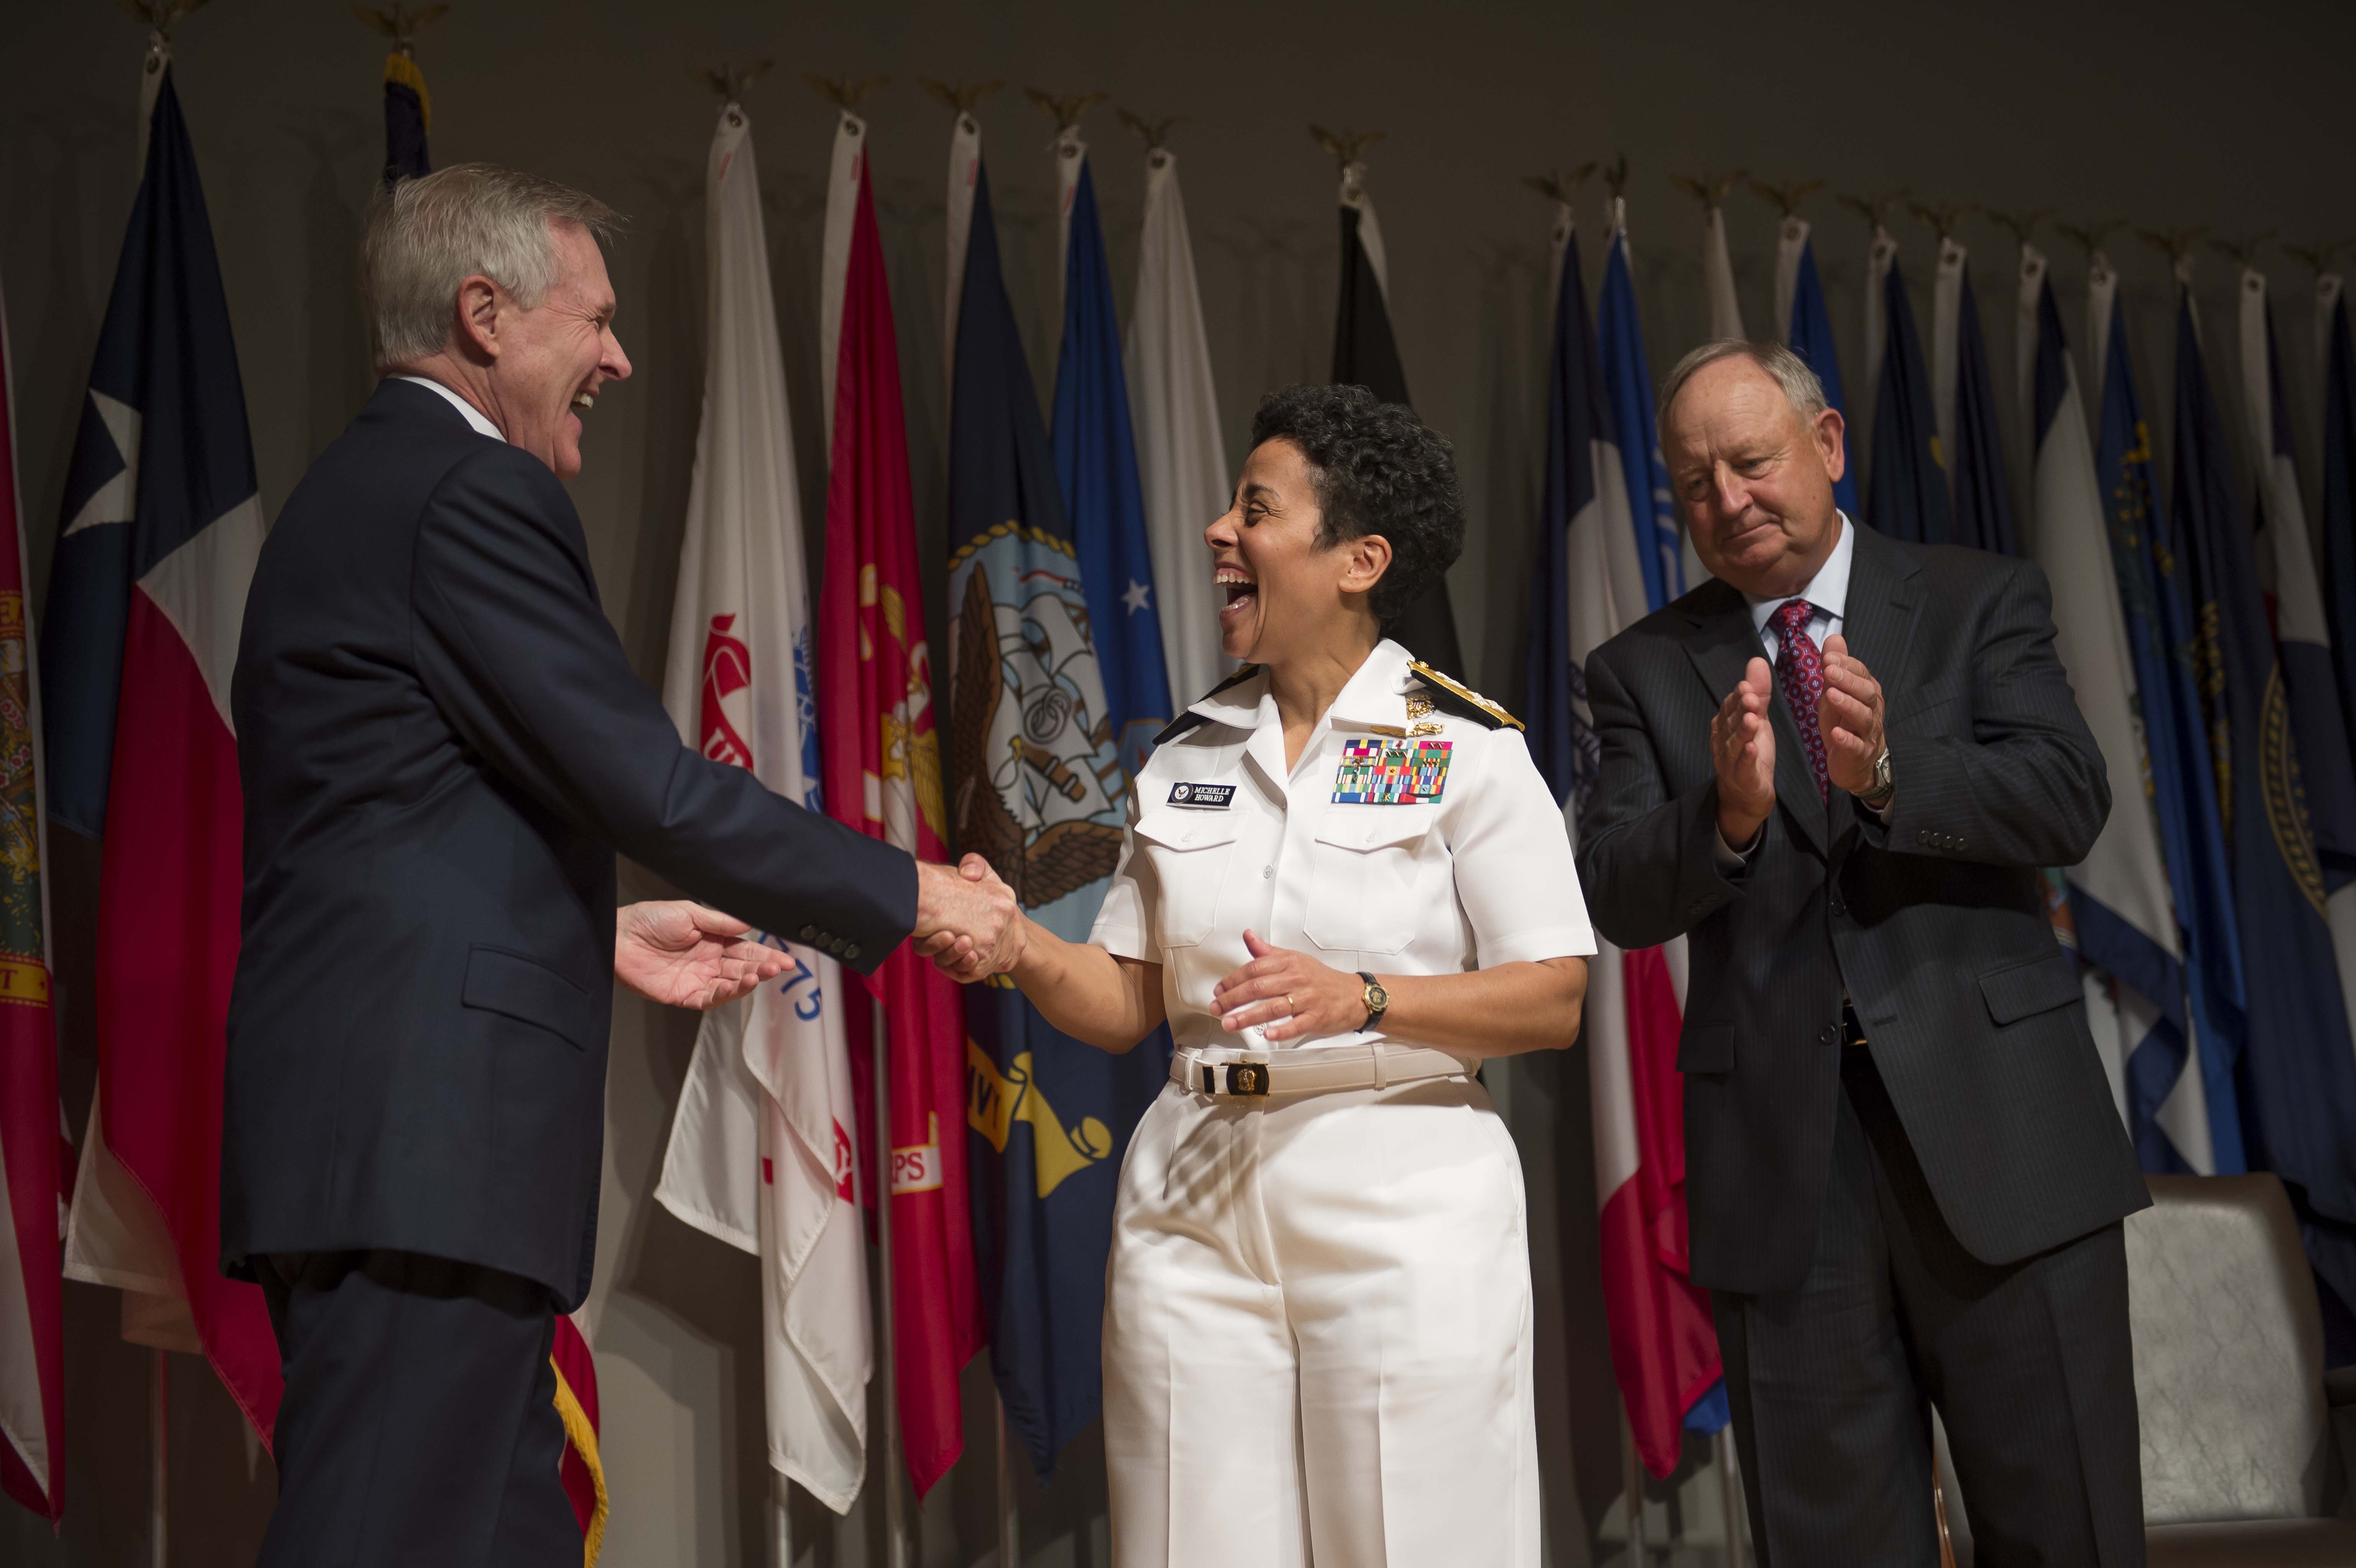
[[[1105,1293],[1114,1568],[1534,1568],[1522,1163],[1487,1090],[1138,1123]]]

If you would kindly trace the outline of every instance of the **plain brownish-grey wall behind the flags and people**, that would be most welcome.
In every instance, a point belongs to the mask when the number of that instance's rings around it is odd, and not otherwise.
[[[115,250],[134,188],[141,31],[97,0],[0,7],[0,283],[16,367],[21,494],[33,582],[47,577],[64,469]],[[353,301],[358,214],[377,165],[382,42],[346,5],[219,0],[179,28],[177,80],[198,146],[236,318],[262,501],[276,513],[306,461],[368,393]],[[617,330],[638,374],[591,419],[573,485],[608,612],[641,676],[660,683],[681,511],[702,386],[702,170],[714,99],[690,68],[773,59],[747,97],[768,210],[780,323],[810,516],[818,450],[815,268],[832,111],[803,71],[893,80],[867,108],[893,275],[921,551],[942,556],[942,174],[949,115],[919,75],[1004,78],[982,108],[1008,287],[1046,393],[1053,308],[1048,120],[1015,92],[1110,89],[1147,118],[1187,115],[1171,146],[1211,325],[1230,454],[1258,393],[1322,379],[1333,311],[1333,167],[1305,125],[1381,127],[1371,191],[1390,247],[1392,315],[1416,403],[1458,445],[1475,532],[1451,591],[1472,669],[1517,697],[1529,527],[1541,450],[1546,233],[1520,177],[1626,151],[1637,292],[1656,374],[1701,334],[1699,212],[1670,174],[1751,167],[1826,177],[1819,266],[1861,379],[1864,224],[1835,191],[1908,186],[1927,200],[2130,226],[2356,233],[2347,68],[2356,21],[2337,5],[2219,12],[1833,0],[1819,7],[1689,5],[834,5],[744,0],[459,0],[424,33],[438,162],[488,158],[580,184],[631,214],[613,252]],[[1140,146],[1091,113],[1114,275],[1136,268]],[[1602,181],[1579,200],[1590,290]],[[1753,332],[1774,311],[1772,210],[1729,202],[1736,285]],[[1897,224],[1927,332],[1934,242]],[[2000,386],[2012,374],[2012,245],[1986,219],[1974,247]],[[2047,231],[2064,318],[2083,325],[2083,257]],[[2113,257],[2146,386],[2165,386],[2165,261],[2125,233]],[[2307,273],[2269,252],[2295,396],[2311,386]],[[2212,332],[2231,278],[2208,259]],[[2083,341],[2083,339],[2080,339]],[[2219,356],[2231,374],[2231,360]],[[2146,407],[2165,400],[2146,396]],[[2307,400],[2302,396],[2302,410]],[[2165,440],[2165,431],[2160,433]],[[2309,452],[2314,443],[2309,440]],[[35,589],[38,591],[38,589]],[[931,624],[945,626],[938,603]],[[90,918],[97,855],[54,852],[66,1099],[82,1125],[92,1083]],[[624,871],[627,895],[653,892]],[[365,954],[323,956],[365,963]],[[622,1001],[608,1092],[596,1347],[615,1523],[605,1561],[759,1563],[761,1460],[752,1262],[650,1203],[695,1024]],[[1515,1064],[1505,1099],[1531,1180],[1546,1340],[1541,1389],[1548,1533],[1557,1563],[1590,1559],[1619,1474],[1616,1413],[1595,1295],[1586,1067]],[[0,1561],[144,1563],[146,1356],[115,1337],[113,1293],[68,1285],[68,1516],[61,1537],[9,1509]],[[994,1561],[987,1380],[968,1375],[968,1457],[924,1509],[924,1561]],[[240,1436],[203,1363],[177,1358],[170,1420],[174,1563],[252,1561],[271,1467]],[[1105,1563],[1103,1464],[1072,1446],[1053,1488],[1027,1471],[1025,1561]],[[796,1530],[818,1563],[865,1561],[874,1486],[851,1521],[803,1497]]]

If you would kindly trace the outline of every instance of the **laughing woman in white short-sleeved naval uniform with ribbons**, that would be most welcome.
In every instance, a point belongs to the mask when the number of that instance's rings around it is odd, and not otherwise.
[[[1138,775],[1091,942],[1013,968],[1074,1038],[1178,1041],[1107,1267],[1112,1556],[1534,1566],[1522,1168],[1470,1071],[1571,1043],[1595,939],[1520,725],[1381,638],[1463,544],[1454,454],[1296,386],[1204,537],[1249,666]]]

